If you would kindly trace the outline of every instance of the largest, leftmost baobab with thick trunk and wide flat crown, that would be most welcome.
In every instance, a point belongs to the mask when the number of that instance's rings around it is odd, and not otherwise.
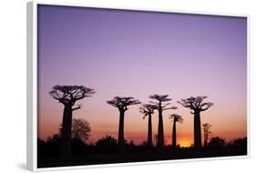
[[[61,127],[61,158],[69,158],[71,155],[71,127],[72,113],[81,108],[75,103],[84,97],[91,97],[94,89],[86,86],[53,86],[49,94],[59,103],[64,105],[62,127]]]

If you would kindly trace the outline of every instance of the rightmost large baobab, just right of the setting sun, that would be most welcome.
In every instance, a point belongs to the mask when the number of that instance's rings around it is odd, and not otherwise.
[[[203,102],[207,97],[189,97],[178,101],[183,107],[190,108],[191,114],[194,115],[194,148],[200,150],[201,145],[201,124],[200,124],[200,112],[205,111],[213,106],[211,102]]]

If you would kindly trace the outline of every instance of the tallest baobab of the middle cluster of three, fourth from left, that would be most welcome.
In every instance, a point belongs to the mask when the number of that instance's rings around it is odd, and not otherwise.
[[[164,127],[163,127],[163,111],[168,109],[177,109],[177,107],[168,107],[170,103],[165,103],[171,100],[169,95],[151,95],[149,98],[157,100],[157,102],[150,101],[151,104],[157,107],[159,110],[159,129],[158,129],[158,148],[164,146]]]

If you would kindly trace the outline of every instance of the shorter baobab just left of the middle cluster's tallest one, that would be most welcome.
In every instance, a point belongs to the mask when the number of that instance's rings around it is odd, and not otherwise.
[[[154,110],[157,107],[150,104],[143,104],[139,109],[139,112],[144,115],[143,119],[148,116],[148,147],[152,147],[152,114],[154,114]]]

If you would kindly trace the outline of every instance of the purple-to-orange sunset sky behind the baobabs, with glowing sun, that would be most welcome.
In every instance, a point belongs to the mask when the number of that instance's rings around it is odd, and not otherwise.
[[[178,143],[193,143],[193,116],[177,100],[208,96],[213,107],[201,122],[213,125],[213,136],[230,140],[247,135],[247,19],[39,5],[38,7],[38,137],[58,131],[63,106],[48,92],[55,85],[84,85],[97,93],[79,101],[75,118],[92,127],[89,142],[117,137],[118,109],[106,101],[168,94],[165,140],[170,143],[169,114],[184,118]],[[148,119],[132,106],[126,112],[125,137],[147,139]],[[158,115],[153,116],[157,134]]]

